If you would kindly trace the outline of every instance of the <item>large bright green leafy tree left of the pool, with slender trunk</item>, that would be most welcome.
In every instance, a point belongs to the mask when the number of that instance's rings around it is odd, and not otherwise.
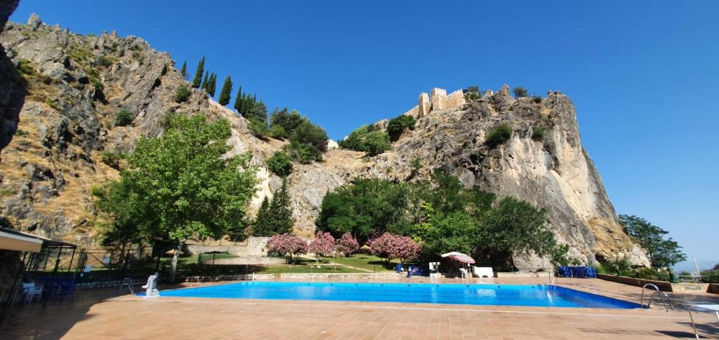
[[[127,197],[128,204],[100,199],[99,207],[109,204],[104,208],[109,212],[124,209],[123,214],[136,216],[132,222],[145,240],[175,244],[170,280],[186,240],[221,237],[242,220],[255,194],[258,181],[249,155],[226,157],[231,134],[226,120],[208,123],[201,114],[170,115],[162,135],[137,142],[122,183],[109,186],[107,197]]]

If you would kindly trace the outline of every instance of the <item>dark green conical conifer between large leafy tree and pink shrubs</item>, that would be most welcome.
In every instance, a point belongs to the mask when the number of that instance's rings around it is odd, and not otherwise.
[[[263,204],[265,203],[263,202]],[[260,212],[262,212],[262,207],[260,207]],[[273,194],[272,202],[267,205],[265,212],[263,214],[258,212],[255,225],[252,227],[252,235],[272,236],[285,234],[292,232],[294,224],[290,191],[287,179],[283,179],[282,186]]]

